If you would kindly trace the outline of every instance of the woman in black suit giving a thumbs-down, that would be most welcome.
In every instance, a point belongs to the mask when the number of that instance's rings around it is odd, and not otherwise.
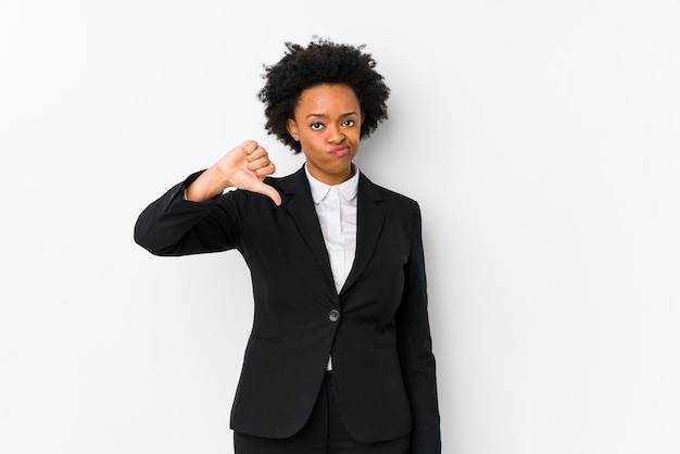
[[[440,453],[419,207],[353,163],[390,90],[363,47],[324,39],[287,43],[264,78],[266,129],[302,167],[273,177],[247,140],[151,203],[135,240],[250,268],[237,454]]]

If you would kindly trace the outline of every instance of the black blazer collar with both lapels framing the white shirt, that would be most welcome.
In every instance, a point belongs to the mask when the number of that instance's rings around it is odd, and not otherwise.
[[[322,234],[318,217],[316,216],[316,209],[312,201],[310,182],[304,173],[304,166],[288,177],[281,178],[278,186],[284,199],[281,205],[290,213],[300,235],[304,238],[304,241],[314,253],[314,256],[328,276],[329,282],[332,285],[333,279],[328,252],[324,243],[324,235]],[[366,269],[385,222],[385,213],[380,207],[382,198],[377,187],[362,173],[358,176],[357,198],[356,254],[352,269],[340,290],[340,294],[352,287]]]

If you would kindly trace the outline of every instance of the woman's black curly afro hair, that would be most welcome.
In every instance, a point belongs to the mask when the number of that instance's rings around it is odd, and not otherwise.
[[[286,54],[278,63],[267,66],[266,80],[257,98],[265,104],[265,128],[294,154],[302,151],[286,128],[293,118],[300,94],[307,88],[325,84],[345,85],[354,90],[362,106],[364,121],[360,138],[364,139],[387,119],[387,99],[390,89],[374,67],[376,62],[363,46],[335,43],[314,37],[306,48],[286,42]]]

